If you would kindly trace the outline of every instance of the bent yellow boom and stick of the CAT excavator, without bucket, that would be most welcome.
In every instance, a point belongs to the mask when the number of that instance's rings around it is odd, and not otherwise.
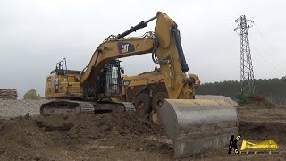
[[[88,64],[87,70],[81,75],[81,89],[84,94],[95,86],[99,73],[105,65],[114,59],[152,53],[153,61],[160,65],[164,73],[164,80],[168,95],[172,99],[194,98],[192,80],[185,72],[189,71],[188,64],[181,47],[180,32],[177,24],[165,13],[158,12],[155,32],[147,32],[140,38],[122,38],[131,31],[147,26],[147,22],[140,22],[137,26],[119,34],[117,37],[107,38],[97,47]]]

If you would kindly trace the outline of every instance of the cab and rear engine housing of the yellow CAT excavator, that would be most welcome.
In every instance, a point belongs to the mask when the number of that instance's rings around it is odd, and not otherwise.
[[[121,70],[119,60],[115,59],[106,64],[99,74],[95,87],[89,90],[85,97],[97,96],[98,99],[122,97]],[[74,99],[81,97],[81,73],[81,71],[68,70],[66,59],[63,58],[56,64],[55,70],[46,77],[46,98]]]

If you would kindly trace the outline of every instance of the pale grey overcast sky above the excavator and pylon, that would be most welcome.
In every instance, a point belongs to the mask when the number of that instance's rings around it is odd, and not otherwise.
[[[233,29],[241,14],[257,25],[248,32],[255,78],[281,78],[286,75],[285,6],[283,0],[1,0],[0,88],[18,89],[21,96],[36,89],[43,96],[46,76],[62,58],[69,69],[82,70],[105,38],[157,11],[179,25],[189,72],[202,82],[240,80],[240,37]],[[151,55],[139,55],[122,59],[122,66],[134,75],[155,64]]]

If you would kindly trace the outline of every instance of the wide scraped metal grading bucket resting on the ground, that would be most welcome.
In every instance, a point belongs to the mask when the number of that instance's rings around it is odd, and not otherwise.
[[[158,116],[175,158],[226,147],[238,132],[236,109],[225,100],[164,99]]]

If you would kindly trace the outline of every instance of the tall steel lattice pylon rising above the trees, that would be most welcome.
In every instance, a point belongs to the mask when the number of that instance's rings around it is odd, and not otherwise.
[[[250,54],[248,28],[253,26],[253,21],[241,15],[235,22],[238,27],[234,29],[240,35],[240,82],[241,91],[254,92],[254,73]]]

